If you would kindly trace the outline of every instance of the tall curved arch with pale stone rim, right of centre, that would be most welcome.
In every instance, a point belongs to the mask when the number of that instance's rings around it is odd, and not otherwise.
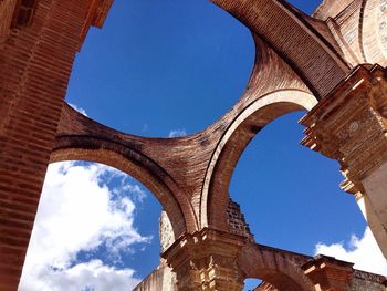
[[[206,173],[200,200],[200,225],[227,231],[229,184],[237,163],[250,141],[283,114],[311,110],[316,100],[299,90],[272,92],[247,106],[218,143]]]

